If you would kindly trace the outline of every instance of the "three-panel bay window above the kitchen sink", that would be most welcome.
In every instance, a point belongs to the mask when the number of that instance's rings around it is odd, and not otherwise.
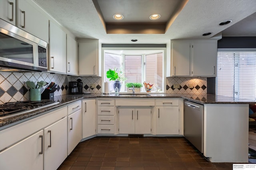
[[[126,92],[126,83],[150,82],[154,84],[152,92],[163,92],[165,86],[164,50],[105,50],[104,51],[104,82],[110,82],[110,91],[114,81],[109,81],[106,71],[117,68],[122,71],[126,80],[122,82],[120,92]],[[141,92],[145,92],[141,88]]]

